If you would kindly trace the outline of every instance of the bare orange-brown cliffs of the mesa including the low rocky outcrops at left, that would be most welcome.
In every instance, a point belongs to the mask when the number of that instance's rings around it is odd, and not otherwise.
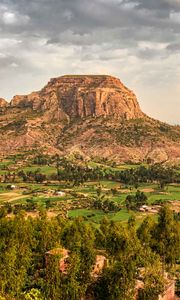
[[[108,75],[66,75],[53,78],[39,92],[15,96],[10,105],[45,111],[57,120],[113,116],[144,116],[136,96],[118,78]]]

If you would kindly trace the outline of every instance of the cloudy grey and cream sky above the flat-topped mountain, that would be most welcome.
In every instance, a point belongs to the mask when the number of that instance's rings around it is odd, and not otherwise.
[[[180,123],[180,0],[1,0],[0,97],[64,74],[111,74]]]

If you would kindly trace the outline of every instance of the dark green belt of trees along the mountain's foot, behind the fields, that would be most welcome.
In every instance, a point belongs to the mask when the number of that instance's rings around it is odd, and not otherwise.
[[[33,158],[32,164],[53,165],[57,171],[49,176],[43,174],[39,169],[36,171],[8,172],[4,175],[5,182],[15,182],[16,177],[22,178],[24,182],[35,181],[42,183],[45,180],[64,180],[72,182],[73,185],[81,185],[88,180],[116,180],[126,185],[138,187],[142,182],[158,182],[160,188],[164,188],[168,183],[180,182],[180,174],[174,168],[154,164],[148,167],[139,166],[127,170],[118,170],[113,167],[103,167],[101,165],[90,167],[82,160],[70,160],[58,155],[49,157],[48,155],[37,155]]]

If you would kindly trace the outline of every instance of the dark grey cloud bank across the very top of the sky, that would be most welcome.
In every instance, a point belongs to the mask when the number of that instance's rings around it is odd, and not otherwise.
[[[0,23],[6,35],[45,39],[47,45],[91,46],[110,44],[117,48],[137,48],[138,41],[173,44],[180,26],[170,14],[180,9],[179,0],[2,0],[9,22]],[[0,6],[0,11],[1,11]],[[9,15],[8,15],[9,14]],[[23,22],[24,20],[24,22]],[[1,32],[0,32],[1,35]],[[170,53],[170,48],[168,51]],[[137,52],[138,53],[138,52]],[[159,53],[161,51],[159,50]],[[150,54],[150,51],[149,51]],[[146,57],[142,53],[141,57]]]

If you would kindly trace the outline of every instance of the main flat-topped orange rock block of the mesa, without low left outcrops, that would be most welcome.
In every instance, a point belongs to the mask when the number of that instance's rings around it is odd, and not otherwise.
[[[41,91],[56,92],[60,108],[70,117],[141,118],[136,96],[119,79],[108,75],[66,75],[53,78]]]

